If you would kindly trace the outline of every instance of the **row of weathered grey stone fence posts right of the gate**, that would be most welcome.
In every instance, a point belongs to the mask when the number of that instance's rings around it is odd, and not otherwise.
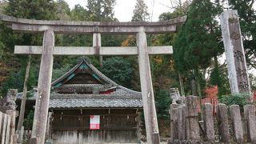
[[[199,122],[197,97],[186,97],[185,105],[170,105],[169,143],[256,143],[254,105],[243,106],[241,114],[238,105],[228,107],[218,103],[216,118],[212,104],[202,106],[203,119]]]

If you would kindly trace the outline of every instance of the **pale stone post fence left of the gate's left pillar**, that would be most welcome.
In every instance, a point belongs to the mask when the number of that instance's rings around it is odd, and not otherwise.
[[[6,114],[0,111],[0,143],[17,143],[18,135],[15,132],[15,111],[7,110]]]

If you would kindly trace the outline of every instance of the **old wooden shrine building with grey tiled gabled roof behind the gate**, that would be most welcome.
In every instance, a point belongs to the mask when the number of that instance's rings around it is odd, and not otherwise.
[[[140,92],[119,86],[83,59],[52,82],[46,141],[139,142]],[[18,94],[18,99],[22,94]],[[36,100],[36,94],[28,103]]]

